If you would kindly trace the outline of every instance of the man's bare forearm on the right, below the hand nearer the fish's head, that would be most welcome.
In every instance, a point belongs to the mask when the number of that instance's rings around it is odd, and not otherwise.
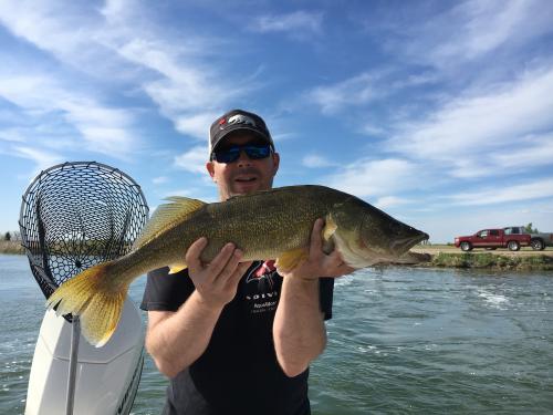
[[[319,279],[284,278],[274,317],[276,359],[288,376],[305,371],[326,345]]]

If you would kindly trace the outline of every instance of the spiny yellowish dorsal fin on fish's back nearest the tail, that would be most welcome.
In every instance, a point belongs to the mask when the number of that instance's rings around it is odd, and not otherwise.
[[[149,218],[146,227],[142,231],[138,239],[133,245],[133,249],[138,249],[146,245],[148,241],[157,237],[163,231],[171,228],[186,220],[196,210],[200,209],[206,203],[198,199],[190,199],[188,197],[171,196],[168,197],[168,204],[159,205]]]

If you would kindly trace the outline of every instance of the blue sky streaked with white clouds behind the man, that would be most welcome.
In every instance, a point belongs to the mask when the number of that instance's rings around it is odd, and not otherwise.
[[[553,231],[553,2],[0,0],[0,231],[54,164],[207,201],[210,123],[262,115],[275,186],[430,234]]]

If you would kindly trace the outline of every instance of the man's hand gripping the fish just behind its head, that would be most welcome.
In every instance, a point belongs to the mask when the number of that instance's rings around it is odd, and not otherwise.
[[[323,219],[315,220],[315,225],[311,231],[309,258],[289,272],[281,273],[279,271],[282,277],[315,280],[320,277],[342,277],[355,271],[355,268],[344,263],[337,250],[333,250],[328,255],[324,253],[322,239],[323,226]]]

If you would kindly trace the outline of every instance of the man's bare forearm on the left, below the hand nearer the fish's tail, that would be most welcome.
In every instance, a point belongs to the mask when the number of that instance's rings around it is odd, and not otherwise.
[[[174,377],[206,351],[221,310],[195,291],[178,311],[148,328],[146,349],[161,373]]]

